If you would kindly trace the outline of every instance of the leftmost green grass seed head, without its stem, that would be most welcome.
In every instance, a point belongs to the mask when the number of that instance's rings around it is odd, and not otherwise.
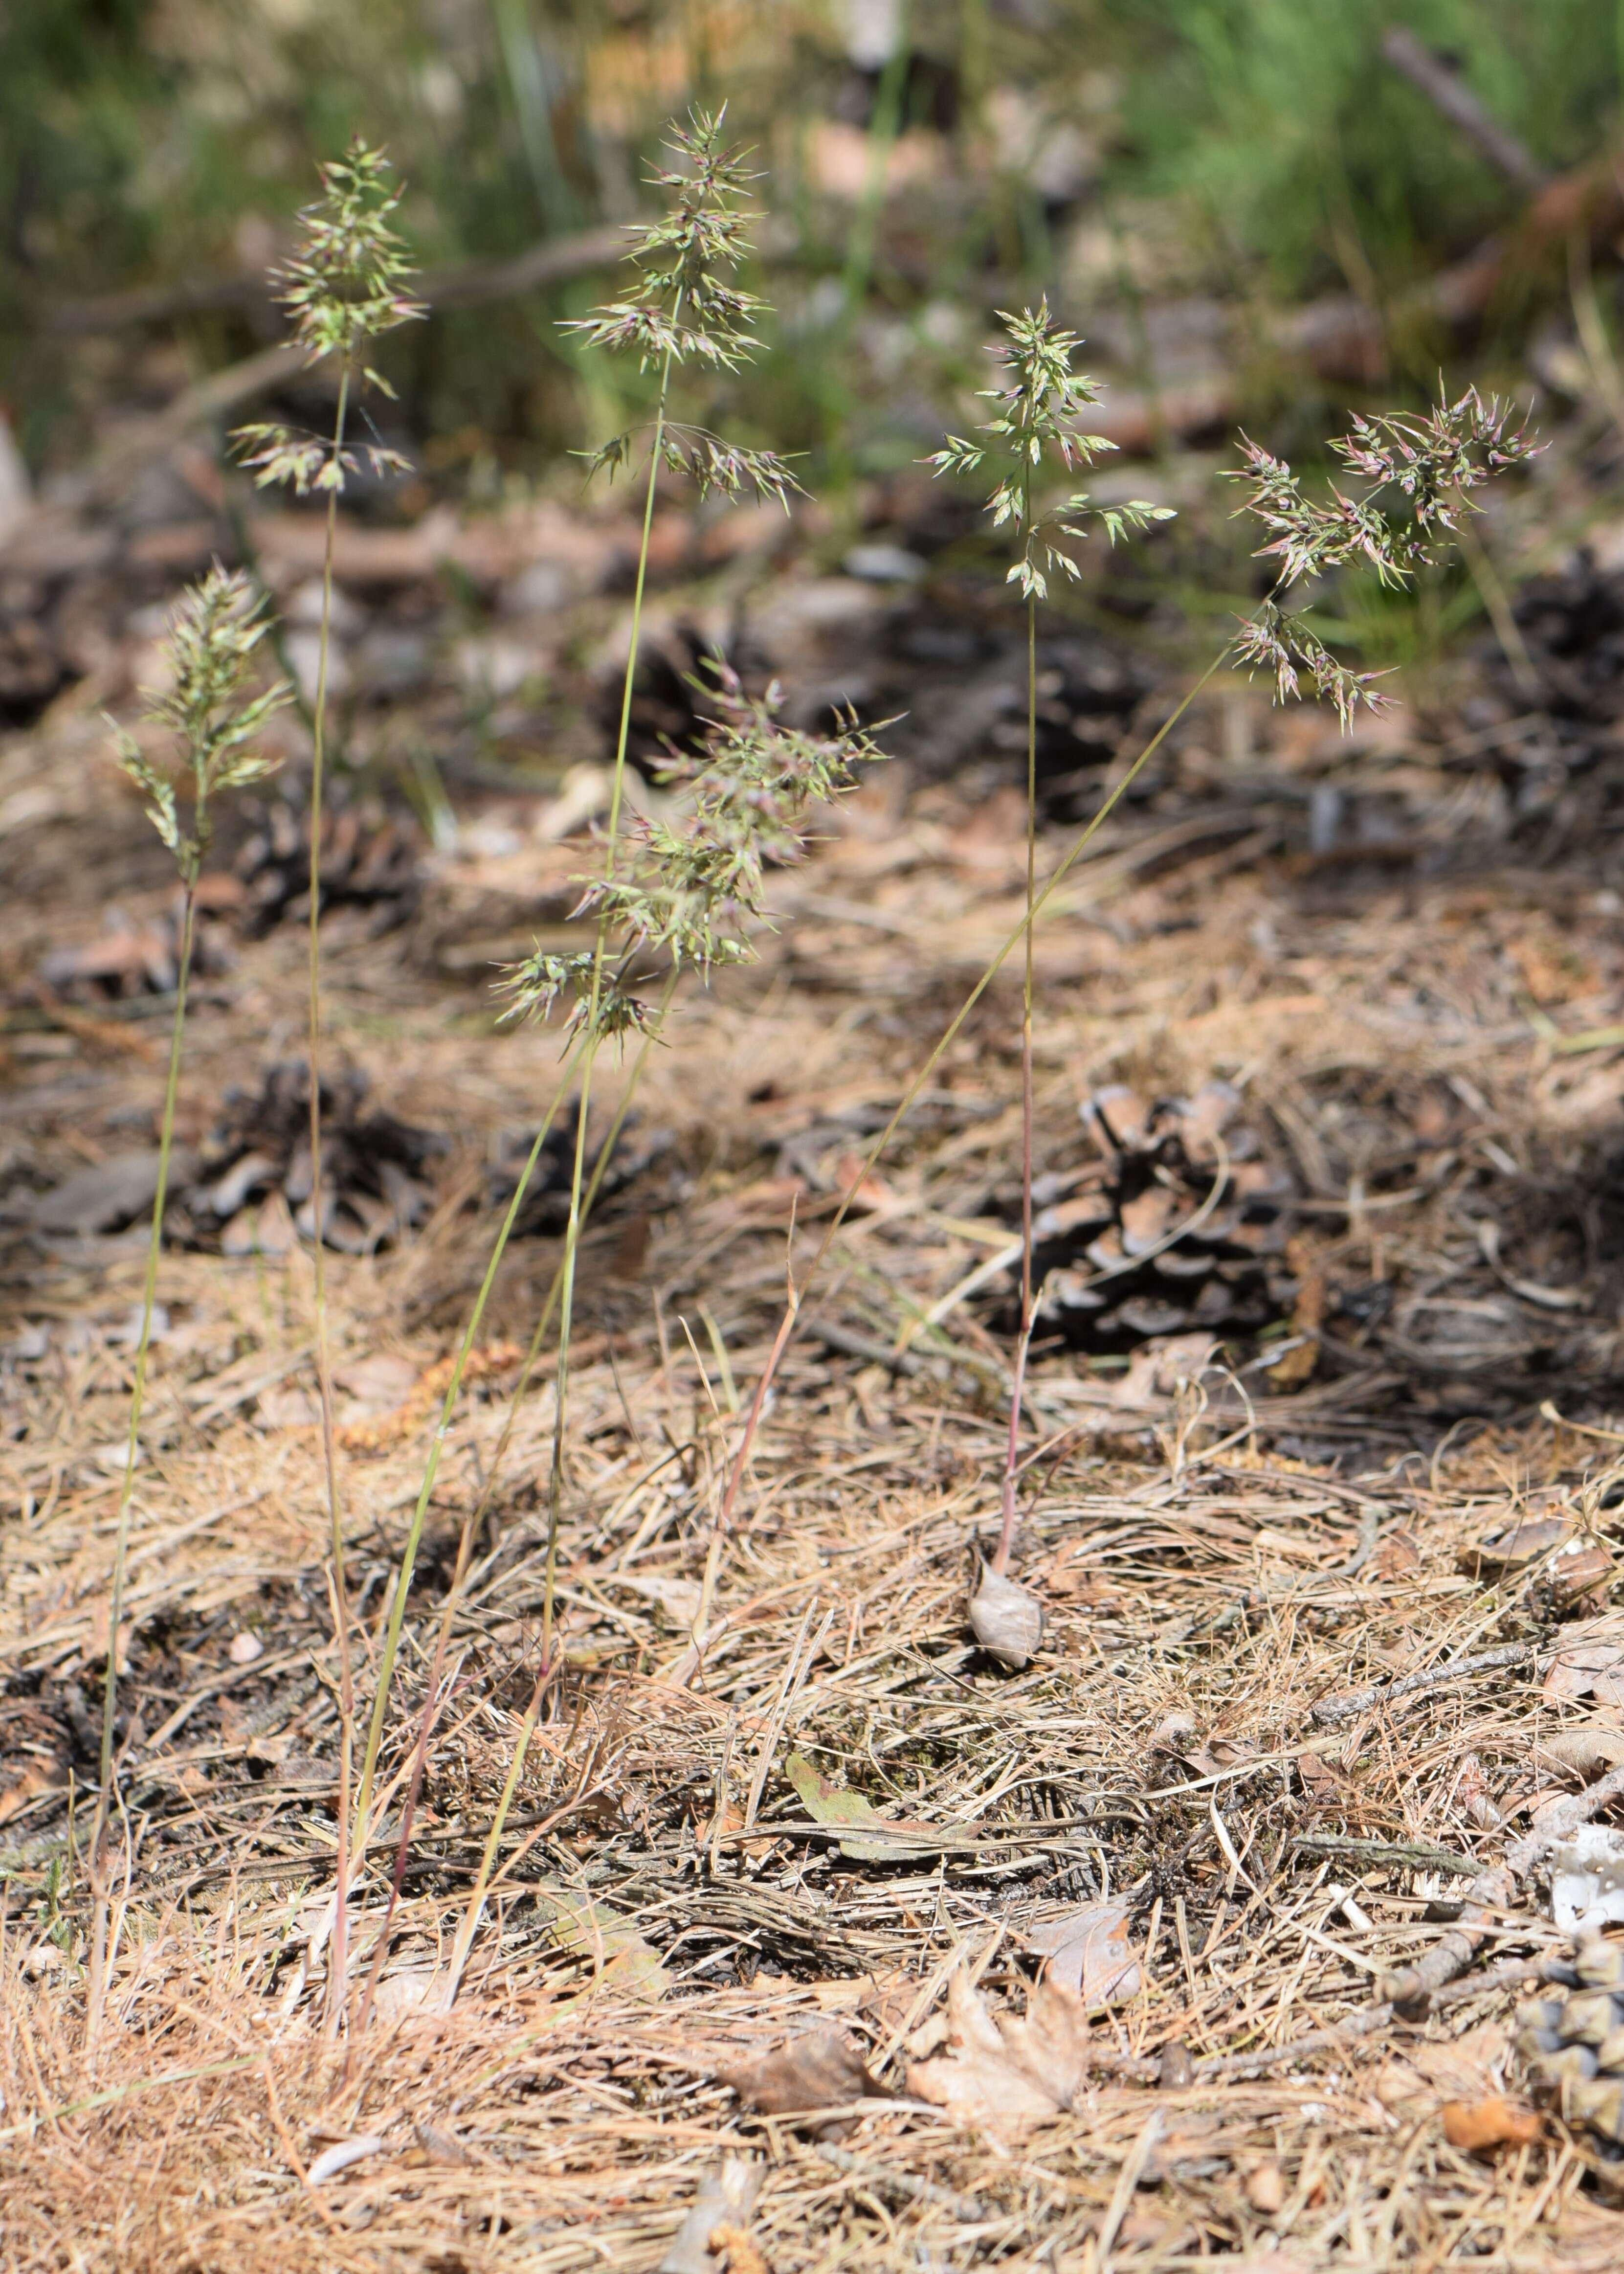
[[[187,880],[193,880],[214,835],[209,800],[271,773],[277,760],[255,748],[264,725],[291,698],[284,682],[248,696],[259,641],[268,632],[264,596],[241,571],[218,564],[191,584],[171,619],[166,655],[171,684],[155,694],[143,716],[166,728],[184,748],[191,771],[191,825],[175,800],[175,780],[161,773],[136,739],[114,725],[118,764],[148,798],[148,819]]]

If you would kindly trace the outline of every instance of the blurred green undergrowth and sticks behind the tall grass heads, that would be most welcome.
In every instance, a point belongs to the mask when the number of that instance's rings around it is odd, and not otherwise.
[[[11,0],[0,387],[41,473],[111,384],[161,391],[273,339],[243,280],[353,130],[405,175],[425,268],[457,273],[628,221],[662,121],[726,98],[778,307],[732,416],[807,450],[810,480],[917,459],[992,307],[1039,289],[1121,384],[1233,364],[1251,312],[1242,407],[1321,430],[1258,312],[1340,293],[1387,321],[1526,205],[1383,57],[1392,25],[1535,168],[1606,148],[1624,0]],[[612,428],[625,382],[557,330],[607,275],[441,305],[391,341],[430,473],[532,473]],[[136,289],[146,321],[86,314]],[[1540,314],[1501,307],[1474,371]],[[1383,398],[1426,391],[1456,341],[1390,323],[1390,348]]]

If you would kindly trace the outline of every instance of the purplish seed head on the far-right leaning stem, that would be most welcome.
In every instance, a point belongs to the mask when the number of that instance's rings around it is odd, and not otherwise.
[[[1360,703],[1367,709],[1383,705],[1374,675],[1340,664],[1301,614],[1281,607],[1278,594],[1344,566],[1372,568],[1385,587],[1408,584],[1417,568],[1437,564],[1451,532],[1474,512],[1467,491],[1526,464],[1540,446],[1513,430],[1508,409],[1469,387],[1426,418],[1356,418],[1331,448],[1372,484],[1365,496],[1347,498],[1333,487],[1328,500],[1310,498],[1285,459],[1242,434],[1246,464],[1228,468],[1228,480],[1246,484],[1242,512],[1269,532],[1258,557],[1278,559],[1281,573],[1235,648],[1246,666],[1274,675],[1278,703],[1296,696],[1308,673],[1315,694],[1335,703],[1347,728]],[[1390,507],[1408,507],[1408,518]]]

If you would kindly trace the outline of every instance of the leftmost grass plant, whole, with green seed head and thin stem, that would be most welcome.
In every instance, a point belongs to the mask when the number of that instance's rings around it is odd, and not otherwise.
[[[130,1428],[118,1478],[118,1514],[114,1539],[114,1585],[107,1610],[107,1674],[102,1678],[102,1749],[96,1821],[91,1831],[91,1869],[96,1874],[96,1958],[91,1992],[91,2035],[107,1960],[105,1840],[114,1803],[114,1733],[118,1717],[118,1628],[123,1626],[125,1569],[130,1560],[130,1508],[134,1474],[141,1458],[141,1408],[146,1403],[148,1355],[152,1351],[152,1314],[157,1305],[157,1264],[164,1248],[164,1203],[168,1198],[168,1164],[175,1146],[175,1103],[180,1098],[180,1060],[187,1030],[187,987],[196,937],[198,878],[214,837],[214,800],[248,782],[262,780],[273,760],[255,748],[264,725],[289,700],[284,682],[250,694],[259,664],[259,644],[268,632],[264,600],[243,575],[212,568],[180,600],[166,639],[168,687],[146,705],[146,719],[184,753],[182,785],[189,803],[182,810],[175,778],[155,764],[134,735],[116,730],[118,764],[148,800],[148,819],[175,857],[180,873],[180,953],[175,957],[175,1014],[168,1030],[168,1071],[157,1137],[157,1187],[152,1192],[152,1233],[141,1285],[141,1326],[136,1330],[134,1380],[130,1387]]]

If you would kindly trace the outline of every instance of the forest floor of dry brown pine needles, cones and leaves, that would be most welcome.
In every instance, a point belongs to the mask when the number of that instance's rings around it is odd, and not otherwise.
[[[1565,2117],[1515,2017],[1560,2001],[1576,1917],[1624,1910],[1624,1842],[1590,1821],[1624,1776],[1624,573],[1553,568],[1517,644],[1417,678],[1353,741],[1215,682],[1051,903],[1014,1555],[1046,1630],[1012,1674],[967,1626],[1019,1271],[1010,973],[805,1287],[716,1535],[785,1278],[1019,921],[1008,623],[905,484],[835,573],[796,566],[794,525],[671,516],[644,757],[691,723],[707,637],[807,719],[908,716],[778,875],[794,921],[762,964],[678,994],[682,1046],[651,1055],[607,1164],[569,1667],[469,1942],[539,1646],[550,1358],[498,1446],[560,1253],[553,1139],[430,1508],[396,1812],[353,1890],[371,2017],[332,2044],[291,787],[205,903],[107,1633],[173,891],[100,712],[221,534],[182,475],[184,518],[93,557],[41,528],[7,564],[45,659],[0,744],[25,880],[0,905],[5,2263],[1617,2265],[1624,2101],[1613,2140],[1601,2101]],[[298,518],[259,532],[289,591]],[[585,866],[623,530],[537,507],[346,543],[328,1285],[371,1703],[446,1358],[560,1082],[557,1039],[491,1035],[487,982],[562,930]],[[469,582],[489,621],[457,630]],[[1042,657],[1046,869],[1171,709],[1124,625],[1080,616]],[[594,1144],[616,1103],[605,1073]],[[109,1649],[116,1951],[86,2047]]]

